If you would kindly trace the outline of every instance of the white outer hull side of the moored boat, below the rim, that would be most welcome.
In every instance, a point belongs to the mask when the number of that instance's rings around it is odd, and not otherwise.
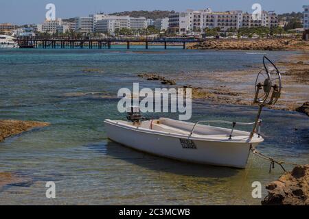
[[[132,149],[195,164],[246,168],[250,148],[258,143],[187,140],[105,122],[110,140]]]

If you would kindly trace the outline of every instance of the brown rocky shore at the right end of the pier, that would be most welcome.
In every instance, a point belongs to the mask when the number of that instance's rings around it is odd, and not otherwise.
[[[297,41],[298,42],[298,41]],[[187,49],[218,49],[218,50],[286,50],[295,40],[287,39],[241,39],[241,40],[205,40],[193,44]]]

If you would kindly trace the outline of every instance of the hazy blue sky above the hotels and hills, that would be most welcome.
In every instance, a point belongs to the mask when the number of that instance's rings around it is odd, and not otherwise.
[[[309,0],[7,0],[0,3],[0,23],[41,23],[45,18],[45,5],[56,5],[56,16],[69,18],[87,16],[95,12],[122,12],[125,10],[176,10],[203,9],[244,10],[251,12],[253,3],[260,3],[263,10],[300,12]]]

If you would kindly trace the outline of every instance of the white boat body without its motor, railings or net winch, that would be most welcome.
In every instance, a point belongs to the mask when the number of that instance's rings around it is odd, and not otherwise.
[[[236,168],[244,168],[251,146],[263,142],[258,134],[249,139],[250,133],[245,131],[232,133],[231,129],[168,118],[141,123],[106,120],[105,127],[108,138],[139,151],[185,162]]]

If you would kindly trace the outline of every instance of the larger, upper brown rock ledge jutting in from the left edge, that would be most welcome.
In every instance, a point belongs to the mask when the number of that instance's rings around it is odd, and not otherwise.
[[[10,136],[15,136],[24,131],[30,131],[34,128],[41,128],[50,125],[49,123],[32,122],[32,121],[16,121],[16,120],[0,120],[0,142]]]

